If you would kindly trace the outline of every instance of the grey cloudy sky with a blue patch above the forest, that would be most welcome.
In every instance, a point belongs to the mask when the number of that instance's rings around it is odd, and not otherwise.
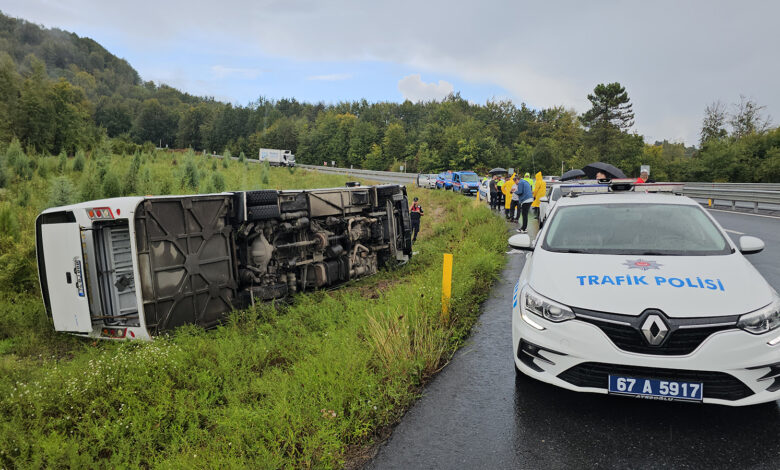
[[[645,140],[698,141],[704,107],[740,95],[780,120],[780,2],[3,0],[91,37],[144,80],[247,104],[510,98],[588,109],[618,81]]]

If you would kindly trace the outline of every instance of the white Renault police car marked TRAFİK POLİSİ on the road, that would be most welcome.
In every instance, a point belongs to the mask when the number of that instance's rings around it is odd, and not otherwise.
[[[561,185],[512,304],[517,371],[580,392],[742,406],[780,399],[780,298],[676,184]]]

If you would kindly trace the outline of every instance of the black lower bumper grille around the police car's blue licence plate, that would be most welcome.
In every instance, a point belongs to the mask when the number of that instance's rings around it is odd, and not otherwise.
[[[725,372],[583,362],[561,372],[558,374],[558,378],[578,387],[606,389],[609,386],[610,375],[680,382],[700,382],[703,386],[704,398],[734,401],[753,395],[750,387]]]

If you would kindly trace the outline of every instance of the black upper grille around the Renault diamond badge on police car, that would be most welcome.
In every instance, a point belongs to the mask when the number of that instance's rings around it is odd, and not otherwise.
[[[595,325],[623,351],[658,356],[684,356],[718,331],[736,328],[737,317],[712,318],[664,318],[669,333],[663,343],[652,346],[647,343],[640,326],[643,317],[573,309],[577,319]]]

